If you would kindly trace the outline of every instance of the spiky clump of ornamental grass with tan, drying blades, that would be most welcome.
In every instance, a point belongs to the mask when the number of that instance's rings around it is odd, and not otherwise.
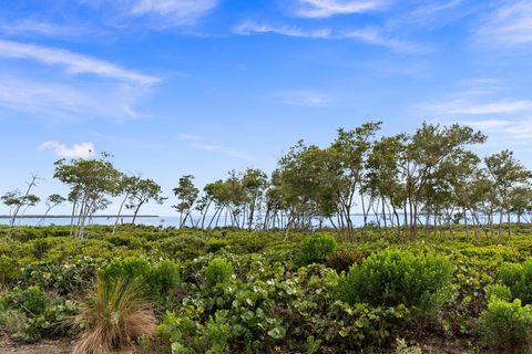
[[[156,319],[139,280],[96,280],[74,322],[84,327],[73,354],[101,354],[151,337]]]

